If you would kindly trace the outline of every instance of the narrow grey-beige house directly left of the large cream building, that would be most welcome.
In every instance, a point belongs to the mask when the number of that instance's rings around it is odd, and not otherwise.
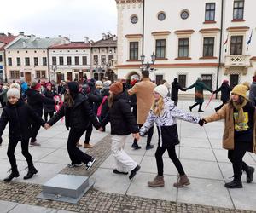
[[[117,37],[103,33],[102,39],[91,44],[91,78],[102,80],[108,77],[112,82],[117,78]]]

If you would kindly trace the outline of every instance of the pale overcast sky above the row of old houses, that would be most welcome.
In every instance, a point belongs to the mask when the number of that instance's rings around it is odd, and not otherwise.
[[[70,37],[82,41],[116,34],[115,0],[7,0],[1,1],[0,32],[37,37]]]

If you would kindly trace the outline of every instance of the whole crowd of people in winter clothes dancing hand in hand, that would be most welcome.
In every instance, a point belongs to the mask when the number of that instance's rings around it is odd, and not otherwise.
[[[37,140],[40,127],[48,130],[63,117],[69,130],[67,153],[71,163],[67,164],[68,167],[75,168],[85,164],[85,170],[91,168],[96,158],[79,149],[83,143],[79,141],[80,137],[85,132],[84,148],[93,148],[90,144],[93,126],[96,130],[105,131],[106,125],[110,123],[111,151],[115,159],[113,173],[129,175],[129,179],[136,176],[141,166],[125,152],[125,141],[132,135],[134,141],[131,148],[137,150],[142,148],[138,142],[140,137],[147,136],[146,150],[154,148],[151,141],[155,125],[158,130],[158,145],[154,154],[157,175],[154,180],[148,181],[148,187],[165,186],[163,154],[166,150],[178,172],[177,182],[173,186],[185,187],[190,184],[175,149],[180,143],[177,119],[200,126],[224,119],[222,143],[223,148],[228,150],[234,173],[233,180],[226,182],[224,187],[241,188],[243,171],[246,173],[247,183],[253,181],[254,168],[247,165],[243,157],[247,152],[256,153],[256,73],[251,86],[243,83],[231,88],[229,82],[224,80],[215,91],[207,87],[201,78],[197,78],[188,88],[183,88],[177,78],[171,84],[162,81],[156,86],[150,80],[148,70],[142,71],[141,80],[135,74],[129,81],[112,83],[108,78],[103,78],[102,81],[84,78],[82,83],[78,80],[62,82],[57,88],[55,83],[44,82],[33,82],[28,86],[24,79],[19,83],[0,85],[0,101],[3,107],[0,118],[0,146],[3,130],[9,124],[7,155],[11,165],[10,174],[3,181],[9,182],[20,176],[15,159],[15,148],[19,141],[28,168],[24,179],[32,178],[38,173],[29,153],[29,145],[40,146]],[[195,104],[189,106],[189,111],[199,105],[198,112],[203,112],[203,90],[208,90],[212,96],[221,92],[223,103],[215,108],[215,113],[201,118],[177,108],[178,90],[187,91],[194,87]],[[249,98],[247,90],[250,90]]]

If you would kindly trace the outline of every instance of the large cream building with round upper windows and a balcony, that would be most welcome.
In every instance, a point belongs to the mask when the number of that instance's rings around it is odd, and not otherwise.
[[[202,77],[216,89],[223,79],[229,79],[231,85],[252,81],[256,70],[255,0],[116,3],[118,78],[140,73],[140,55],[145,55],[144,62],[151,62],[154,52],[156,60],[150,78],[157,83],[160,79],[172,83],[173,78],[178,78],[183,87],[188,87]]]

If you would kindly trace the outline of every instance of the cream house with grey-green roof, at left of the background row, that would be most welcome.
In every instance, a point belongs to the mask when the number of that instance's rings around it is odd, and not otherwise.
[[[24,78],[26,82],[49,78],[48,48],[65,42],[65,38],[23,36],[5,46],[6,74],[9,82]]]

